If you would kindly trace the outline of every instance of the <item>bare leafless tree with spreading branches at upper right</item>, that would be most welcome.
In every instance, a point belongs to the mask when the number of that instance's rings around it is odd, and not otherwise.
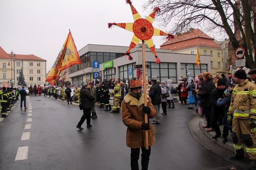
[[[256,68],[256,1],[255,0],[149,0],[144,9],[158,6],[156,17],[172,33],[199,27],[202,31],[218,30],[226,34],[233,47],[245,49],[246,65]]]

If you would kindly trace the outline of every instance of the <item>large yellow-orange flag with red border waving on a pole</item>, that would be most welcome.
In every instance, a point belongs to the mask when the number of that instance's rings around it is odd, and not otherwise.
[[[76,46],[69,30],[69,34],[63,44],[56,61],[53,64],[52,69],[48,73],[45,81],[54,85],[55,81],[58,79],[60,71],[74,65],[81,64]]]

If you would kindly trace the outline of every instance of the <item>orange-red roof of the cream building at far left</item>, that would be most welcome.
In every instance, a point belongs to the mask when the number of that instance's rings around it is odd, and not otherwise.
[[[11,54],[7,54],[2,47],[0,46],[0,58],[4,59],[12,59]],[[14,58],[14,57],[13,57]],[[24,54],[15,54],[15,60],[37,60],[37,61],[46,61],[38,56],[33,54],[24,55]]]

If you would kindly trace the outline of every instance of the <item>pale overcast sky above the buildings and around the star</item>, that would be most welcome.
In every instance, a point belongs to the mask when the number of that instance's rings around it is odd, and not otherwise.
[[[145,18],[153,9],[143,12],[143,1],[132,0],[132,4]],[[69,29],[77,51],[87,44],[129,46],[133,36],[130,31],[107,25],[133,22],[125,0],[0,0],[0,16],[0,46],[9,54],[13,50],[47,60],[46,72],[52,68]],[[161,29],[157,22],[153,26]],[[165,42],[161,36],[154,36],[153,41],[156,48]]]

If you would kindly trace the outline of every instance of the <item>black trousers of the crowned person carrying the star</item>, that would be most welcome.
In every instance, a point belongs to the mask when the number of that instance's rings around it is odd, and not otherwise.
[[[146,149],[145,147],[141,148],[141,166],[142,170],[147,170],[149,157],[151,153],[151,147]],[[140,148],[131,148],[131,170],[139,170],[138,160],[140,157]]]

